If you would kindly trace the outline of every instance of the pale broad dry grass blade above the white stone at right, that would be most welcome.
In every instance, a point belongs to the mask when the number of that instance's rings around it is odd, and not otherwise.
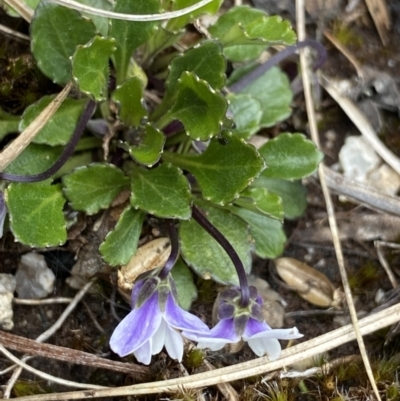
[[[375,149],[376,153],[378,153],[378,155],[382,157],[382,159],[392,167],[397,174],[400,174],[399,158],[381,142],[361,110],[350,99],[340,93],[337,83],[323,74],[320,74],[319,82],[343,109],[358,130],[364,135],[371,146]]]

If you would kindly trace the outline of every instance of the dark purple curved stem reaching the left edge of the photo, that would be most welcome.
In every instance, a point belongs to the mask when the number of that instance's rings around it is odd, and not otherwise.
[[[0,173],[0,179],[12,182],[38,182],[50,178],[65,164],[65,162],[70,158],[70,156],[74,152],[75,147],[83,133],[83,130],[85,129],[86,124],[92,117],[95,109],[96,109],[96,102],[94,102],[93,100],[89,100],[83,113],[79,118],[78,124],[75,128],[74,133],[72,134],[70,141],[65,146],[64,150],[62,151],[57,161],[48,170],[44,171],[43,173],[33,174],[33,175]]]

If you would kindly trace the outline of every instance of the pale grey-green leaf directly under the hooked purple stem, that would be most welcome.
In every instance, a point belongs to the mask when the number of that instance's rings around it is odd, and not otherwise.
[[[260,128],[271,127],[290,116],[293,95],[287,76],[279,68],[271,68],[239,93],[260,102],[263,111]]]

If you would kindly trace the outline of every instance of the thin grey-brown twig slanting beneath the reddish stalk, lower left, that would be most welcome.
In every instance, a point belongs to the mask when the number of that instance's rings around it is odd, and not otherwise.
[[[80,291],[77,292],[75,295],[74,299],[72,302],[65,308],[64,312],[61,314],[61,316],[57,319],[57,321],[51,326],[48,330],[46,330],[44,333],[42,333],[37,339],[37,342],[44,342],[47,339],[49,339],[65,322],[67,317],[71,314],[71,312],[75,309],[75,307],[78,305],[79,301],[85,296],[86,292],[89,290],[89,288],[92,286],[92,284],[95,282],[95,279],[89,281],[86,283]],[[21,362],[25,363],[26,359],[28,356],[24,356],[21,360]],[[19,375],[22,372],[22,367],[21,365],[14,371],[13,375],[11,378],[8,380],[7,387],[4,390],[3,398],[7,399],[10,398],[11,390],[14,387],[15,382],[17,381]]]

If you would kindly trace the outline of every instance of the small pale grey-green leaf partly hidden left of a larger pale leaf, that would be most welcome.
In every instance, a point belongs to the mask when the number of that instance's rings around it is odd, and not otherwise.
[[[260,102],[250,95],[230,95],[228,114],[233,116],[233,133],[244,139],[250,138],[260,129],[262,109]]]

